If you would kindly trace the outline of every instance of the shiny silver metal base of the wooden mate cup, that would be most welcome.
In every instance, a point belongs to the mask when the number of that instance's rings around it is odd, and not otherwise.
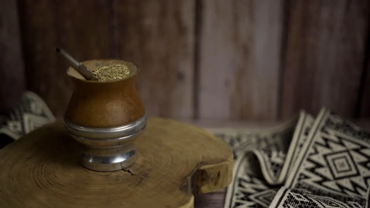
[[[147,116],[112,128],[91,128],[77,125],[64,118],[65,128],[81,144],[78,160],[94,171],[117,171],[132,165],[137,158],[134,140],[144,131]]]

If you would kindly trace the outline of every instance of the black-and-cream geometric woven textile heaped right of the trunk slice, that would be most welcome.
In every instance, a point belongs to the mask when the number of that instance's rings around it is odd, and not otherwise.
[[[370,134],[323,108],[266,130],[209,129],[235,152],[226,208],[368,208]]]

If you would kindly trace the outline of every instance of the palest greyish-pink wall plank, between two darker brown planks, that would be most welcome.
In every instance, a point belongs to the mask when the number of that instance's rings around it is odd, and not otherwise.
[[[199,118],[274,120],[282,0],[204,0]]]

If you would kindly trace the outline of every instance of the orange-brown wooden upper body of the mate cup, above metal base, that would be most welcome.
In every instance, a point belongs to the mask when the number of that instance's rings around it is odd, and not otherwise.
[[[83,64],[92,71],[120,64],[129,68],[130,75],[121,80],[91,81],[82,79],[74,68],[68,68],[75,85],[65,111],[69,121],[85,127],[106,128],[130,124],[145,115],[145,107],[135,88],[139,74],[137,65],[111,59],[84,61]]]

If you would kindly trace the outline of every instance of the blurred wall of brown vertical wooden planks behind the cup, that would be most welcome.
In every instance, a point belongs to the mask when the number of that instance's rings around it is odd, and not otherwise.
[[[322,106],[370,116],[369,0],[17,2],[26,86],[57,116],[73,86],[56,46],[80,60],[138,63],[151,116],[273,121]],[[4,27],[17,25],[16,0],[4,5],[1,37],[16,40],[17,27]]]

